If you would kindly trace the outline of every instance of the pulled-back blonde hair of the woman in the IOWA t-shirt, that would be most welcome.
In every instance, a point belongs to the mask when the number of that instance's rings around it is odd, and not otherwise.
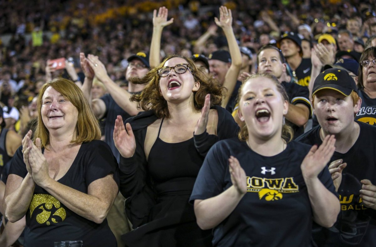
[[[277,87],[278,92],[281,94],[282,98],[285,101],[289,102],[288,101],[288,96],[287,96],[287,93],[286,93],[286,90],[285,90],[285,87],[282,86],[282,84],[279,83],[278,79],[274,75],[269,75],[269,74],[253,74],[253,75],[250,75],[246,80],[244,80],[243,84],[239,88],[238,105],[240,105],[239,102],[240,102],[240,98],[242,96],[241,95],[241,91],[242,91],[244,85],[247,83],[247,81],[249,81],[251,79],[254,79],[254,78],[259,78],[259,77],[268,78],[271,81],[273,81],[274,84]],[[240,108],[239,108],[239,110],[240,110]],[[290,142],[293,139],[293,137],[294,137],[293,129],[287,123],[284,123],[282,125],[282,135],[281,135],[281,137],[287,143]],[[248,133],[247,125],[244,124],[243,127],[240,128],[240,131],[238,133],[238,138],[239,138],[239,140],[241,140],[243,142],[245,142],[246,140],[248,140],[249,133]]]

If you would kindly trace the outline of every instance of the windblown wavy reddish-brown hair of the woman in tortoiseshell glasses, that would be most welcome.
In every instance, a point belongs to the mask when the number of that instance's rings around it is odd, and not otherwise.
[[[129,81],[131,83],[146,84],[140,94],[132,95],[130,101],[136,101],[137,107],[143,109],[144,111],[154,110],[158,118],[169,117],[170,114],[168,112],[167,101],[163,98],[159,88],[159,80],[161,77],[158,74],[158,70],[164,67],[164,64],[174,57],[185,59],[189,64],[194,80],[200,82],[199,90],[197,90],[197,92],[193,92],[194,108],[196,110],[202,109],[205,103],[205,96],[208,93],[210,94],[211,105],[221,105],[224,87],[220,85],[219,81],[198,69],[193,60],[189,57],[184,57],[177,54],[165,58],[161,64],[147,72],[144,77],[130,78]]]

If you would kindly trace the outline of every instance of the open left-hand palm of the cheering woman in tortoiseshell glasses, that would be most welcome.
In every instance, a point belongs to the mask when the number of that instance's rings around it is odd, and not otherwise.
[[[123,118],[118,115],[115,120],[114,143],[120,155],[129,158],[135,154],[136,140],[129,123],[126,124],[126,128],[127,130],[124,127]]]

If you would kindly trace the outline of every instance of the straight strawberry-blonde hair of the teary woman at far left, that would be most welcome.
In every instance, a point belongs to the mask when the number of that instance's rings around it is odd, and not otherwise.
[[[72,140],[73,143],[90,142],[92,140],[100,140],[100,127],[97,118],[95,117],[88,101],[83,95],[82,90],[73,83],[73,81],[55,78],[52,81],[44,84],[39,91],[37,107],[38,117],[35,128],[33,140],[36,138],[41,139],[42,147],[50,143],[49,130],[45,127],[42,120],[42,98],[45,90],[52,87],[68,99],[78,111],[77,124],[76,124],[76,139]]]

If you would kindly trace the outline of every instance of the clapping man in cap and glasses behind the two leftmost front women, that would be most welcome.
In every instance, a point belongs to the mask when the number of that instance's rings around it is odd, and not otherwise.
[[[143,52],[133,54],[128,57],[128,67],[125,78],[129,80],[132,77],[143,77],[149,71],[149,56]],[[129,101],[129,98],[141,92],[144,85],[137,85],[131,82],[128,83],[128,90],[122,89],[114,81],[111,80],[107,74],[106,67],[98,59],[97,56],[91,54],[85,58],[85,54],[80,53],[81,68],[85,74],[85,80],[81,87],[86,99],[91,102],[91,108],[98,119],[103,120],[105,142],[110,146],[117,161],[120,160],[120,154],[115,147],[112,133],[114,132],[115,119],[121,115],[124,119],[135,116],[139,110],[136,104]],[[94,75],[100,82],[102,82],[108,94],[101,98],[93,99],[91,95],[92,81]],[[124,246],[121,241],[121,235],[129,232],[130,226],[128,224],[126,215],[124,213],[124,197],[121,193],[118,194],[108,214],[108,222],[112,232],[114,232],[118,245]]]

